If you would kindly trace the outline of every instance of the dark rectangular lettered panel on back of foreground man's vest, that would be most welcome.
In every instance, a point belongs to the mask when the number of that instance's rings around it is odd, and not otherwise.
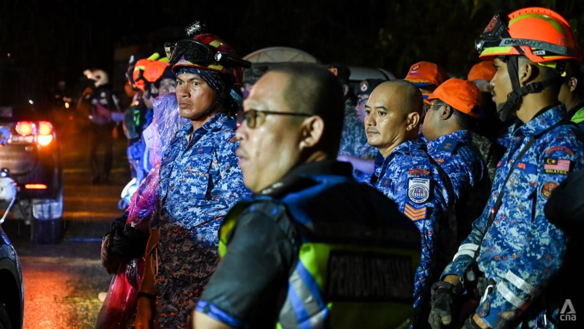
[[[374,252],[331,251],[326,297],[344,302],[412,300],[411,258]]]

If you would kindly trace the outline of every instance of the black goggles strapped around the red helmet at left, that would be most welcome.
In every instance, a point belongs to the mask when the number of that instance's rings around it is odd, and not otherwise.
[[[221,53],[209,44],[202,43],[194,39],[183,39],[176,43],[166,43],[164,45],[168,63],[175,65],[180,58],[185,57],[185,60],[190,63],[207,66],[213,63],[220,64],[227,68],[250,68],[252,63],[250,61],[242,60]]]

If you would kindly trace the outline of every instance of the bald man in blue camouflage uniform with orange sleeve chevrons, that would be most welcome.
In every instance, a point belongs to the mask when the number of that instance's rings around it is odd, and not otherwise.
[[[413,327],[426,324],[430,286],[456,252],[456,195],[444,169],[418,137],[422,94],[404,80],[383,82],[365,105],[367,141],[383,155],[371,178],[379,191],[398,204],[422,236],[422,259],[414,282]]]

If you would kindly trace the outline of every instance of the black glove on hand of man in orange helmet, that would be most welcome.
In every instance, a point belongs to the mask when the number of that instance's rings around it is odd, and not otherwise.
[[[432,329],[440,329],[452,323],[454,309],[454,286],[444,281],[432,285],[430,316],[428,323]]]

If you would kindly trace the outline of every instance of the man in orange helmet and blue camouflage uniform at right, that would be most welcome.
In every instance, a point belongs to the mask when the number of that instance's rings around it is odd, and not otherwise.
[[[584,168],[582,132],[558,102],[564,62],[580,60],[580,52],[568,22],[545,8],[498,13],[476,46],[497,68],[491,86],[500,118],[514,114],[521,124],[510,127],[484,212],[432,287],[429,323],[553,328],[564,300],[550,299],[555,289],[547,287],[564,263],[566,235],[544,206],[570,171]],[[472,314],[454,314],[466,306],[454,300],[471,279],[482,298]]]

